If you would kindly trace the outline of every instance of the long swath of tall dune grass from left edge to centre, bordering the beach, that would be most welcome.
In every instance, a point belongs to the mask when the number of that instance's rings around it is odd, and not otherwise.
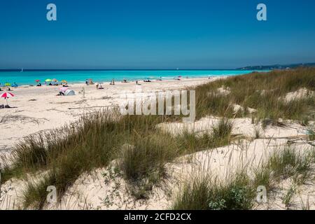
[[[62,197],[80,174],[120,159],[120,168],[134,187],[133,195],[146,197],[146,192],[164,175],[165,163],[187,153],[189,142],[181,143],[175,136],[156,129],[159,123],[178,119],[174,116],[120,116],[114,111],[90,113],[72,125],[22,140],[13,149],[13,165],[5,168],[3,180],[47,172],[43,180],[29,181],[24,194],[25,207],[41,209],[48,186],[55,186]],[[221,128],[224,125],[218,127]],[[230,132],[219,132],[223,135],[215,140],[211,138],[211,144],[202,141],[190,152],[223,142],[227,144],[223,139],[228,139]]]

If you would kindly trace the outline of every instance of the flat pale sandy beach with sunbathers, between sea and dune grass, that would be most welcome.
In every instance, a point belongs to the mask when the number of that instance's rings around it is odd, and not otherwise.
[[[10,151],[10,148],[23,137],[61,127],[72,123],[83,113],[116,106],[121,104],[126,95],[139,91],[156,92],[163,90],[180,90],[185,87],[200,85],[217,78],[184,78],[183,80],[162,80],[151,83],[140,81],[109,85],[103,83],[104,90],[97,90],[96,85],[85,83],[69,85],[70,90],[76,92],[75,96],[56,96],[59,86],[21,86],[13,88],[15,97],[8,99],[11,109],[0,110],[0,152]],[[85,96],[79,94],[85,89]],[[0,104],[6,104],[1,99]]]

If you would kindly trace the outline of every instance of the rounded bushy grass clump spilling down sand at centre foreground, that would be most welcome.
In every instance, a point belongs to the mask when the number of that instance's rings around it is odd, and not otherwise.
[[[130,183],[131,194],[144,199],[165,175],[166,162],[179,155],[179,148],[172,137],[156,133],[132,137],[121,154],[120,168]]]

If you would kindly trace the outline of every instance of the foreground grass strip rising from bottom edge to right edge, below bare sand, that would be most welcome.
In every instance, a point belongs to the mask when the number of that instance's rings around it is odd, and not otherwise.
[[[309,153],[312,152],[312,153]],[[242,169],[228,176],[223,183],[214,177],[195,175],[183,183],[178,195],[174,197],[172,209],[175,210],[248,210],[253,208],[258,186],[265,186],[270,193],[275,184],[283,179],[292,178],[294,188],[304,184],[310,177],[311,159],[314,150],[298,153],[295,148],[286,146],[274,151],[260,167]],[[215,180],[215,181],[214,181]],[[293,197],[292,186],[283,197],[283,204],[289,206]]]

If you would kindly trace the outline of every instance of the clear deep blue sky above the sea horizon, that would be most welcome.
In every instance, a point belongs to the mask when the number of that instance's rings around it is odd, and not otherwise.
[[[46,20],[55,3],[57,21]],[[256,20],[258,3],[267,22]],[[0,69],[232,69],[315,62],[314,0],[0,1]]]

